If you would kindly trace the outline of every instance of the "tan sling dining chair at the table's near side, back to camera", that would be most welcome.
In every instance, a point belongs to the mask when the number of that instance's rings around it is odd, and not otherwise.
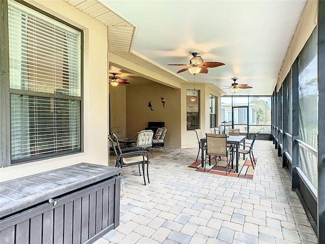
[[[206,155],[209,156],[209,165],[211,165],[211,156],[226,157],[225,174],[228,174],[228,165],[234,159],[233,146],[227,146],[227,136],[225,134],[208,134],[206,133]],[[229,158],[229,162],[228,162]],[[207,159],[204,162],[204,171],[206,169]]]

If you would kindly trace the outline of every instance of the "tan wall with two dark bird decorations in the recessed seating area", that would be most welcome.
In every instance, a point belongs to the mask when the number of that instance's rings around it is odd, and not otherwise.
[[[165,98],[163,107],[160,97]],[[148,106],[151,101],[154,111]],[[148,121],[164,121],[167,128],[165,146],[180,147],[180,89],[159,83],[132,85],[126,88],[127,132],[135,136]]]

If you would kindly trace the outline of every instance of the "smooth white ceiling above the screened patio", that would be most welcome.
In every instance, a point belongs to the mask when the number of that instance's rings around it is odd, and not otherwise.
[[[199,50],[205,62],[225,65],[198,74],[196,82],[224,88],[238,77],[237,83],[253,86],[236,95],[272,94],[306,4],[305,0],[100,2],[136,27],[131,52],[176,75],[184,67],[168,64],[189,64],[189,51]],[[193,81],[188,71],[178,75]],[[223,92],[233,94],[230,89]]]

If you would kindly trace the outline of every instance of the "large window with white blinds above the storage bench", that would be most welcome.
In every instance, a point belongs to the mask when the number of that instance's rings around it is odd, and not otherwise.
[[[8,1],[11,164],[81,151],[82,31]]]

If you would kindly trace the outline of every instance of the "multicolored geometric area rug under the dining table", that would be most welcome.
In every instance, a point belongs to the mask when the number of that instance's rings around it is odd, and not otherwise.
[[[255,158],[255,162],[257,164],[257,158]],[[187,167],[200,172],[227,175],[227,176],[246,178],[246,179],[252,179],[254,176],[255,169],[253,169],[252,163],[250,162],[249,158],[248,159],[246,158],[245,160],[239,160],[238,173],[235,172],[236,171],[235,161],[234,161],[233,169],[231,164],[230,166],[228,166],[227,174],[225,172],[225,165],[226,165],[226,158],[221,158],[221,160],[219,158],[216,158],[215,161],[214,157],[211,157],[211,166],[209,165],[209,162],[207,162],[205,171],[204,171],[204,167],[203,168],[201,167],[201,160],[198,160]]]

